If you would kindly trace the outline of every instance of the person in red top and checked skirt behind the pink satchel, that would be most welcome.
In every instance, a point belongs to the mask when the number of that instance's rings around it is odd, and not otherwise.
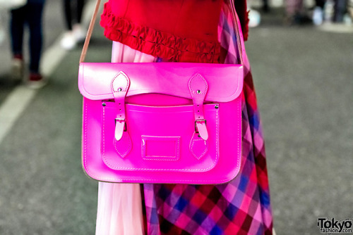
[[[234,2],[246,39],[246,1]],[[114,63],[239,63],[233,10],[232,0],[109,0],[100,24],[114,41]],[[261,122],[244,60],[239,175],[222,185],[100,182],[97,235],[273,234]]]

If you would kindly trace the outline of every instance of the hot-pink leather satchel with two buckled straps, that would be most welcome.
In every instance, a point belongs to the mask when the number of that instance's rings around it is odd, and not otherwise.
[[[243,66],[83,63],[96,14],[78,75],[85,172],[104,182],[234,179],[241,162]]]

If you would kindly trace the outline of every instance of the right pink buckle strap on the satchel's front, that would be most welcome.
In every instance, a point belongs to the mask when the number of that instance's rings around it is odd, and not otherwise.
[[[200,75],[196,74],[189,80],[189,91],[193,99],[193,113],[195,115],[195,132],[198,133],[202,139],[208,139],[208,132],[206,128],[206,120],[203,115],[203,101],[208,91],[208,84],[206,80]]]

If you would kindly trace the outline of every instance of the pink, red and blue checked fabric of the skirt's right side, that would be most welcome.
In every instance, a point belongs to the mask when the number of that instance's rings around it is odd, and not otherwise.
[[[219,24],[225,63],[238,63],[236,35],[227,4]],[[272,234],[268,173],[261,120],[251,71],[242,105],[243,155],[239,175],[228,184],[143,184],[147,234]]]

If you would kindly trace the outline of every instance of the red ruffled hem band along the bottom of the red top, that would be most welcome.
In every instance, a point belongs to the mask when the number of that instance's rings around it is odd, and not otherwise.
[[[152,56],[174,62],[219,63],[220,43],[177,37],[116,17],[104,4],[100,25],[104,36]]]

